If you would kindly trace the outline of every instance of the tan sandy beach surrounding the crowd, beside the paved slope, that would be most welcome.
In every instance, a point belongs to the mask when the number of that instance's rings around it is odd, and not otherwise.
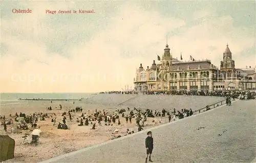
[[[5,103],[1,105],[1,115],[5,115],[6,120],[9,120],[9,114],[14,115],[16,112],[19,114],[20,112],[30,114],[34,112],[43,112],[49,115],[56,114],[57,121],[61,122],[62,116],[61,114],[64,111],[68,111],[69,109],[74,109],[76,106],[80,106],[83,108],[82,112],[86,114],[91,114],[98,110],[108,110],[109,112],[115,111],[117,107],[104,106],[102,104],[85,104],[84,101],[18,101],[10,102],[10,104]],[[62,105],[62,109],[59,110],[59,105]],[[51,106],[53,110],[47,110],[47,107]],[[119,107],[122,108],[122,107]],[[126,108],[127,110],[127,108]],[[128,114],[128,112],[126,112]],[[126,115],[125,114],[125,115]],[[24,145],[22,136],[25,133],[30,134],[32,131],[31,125],[29,125],[29,130],[20,130],[22,133],[11,133],[11,127],[15,127],[17,122],[14,121],[13,125],[7,125],[7,132],[3,130],[3,126],[1,126],[0,134],[8,134],[10,137],[15,139],[15,158],[9,159],[5,162],[37,162],[40,160],[45,160],[48,158],[52,158],[54,156],[58,156],[60,154],[69,153],[84,147],[88,147],[91,145],[99,144],[105,141],[109,141],[111,138],[114,138],[117,135],[125,135],[126,130],[137,132],[138,126],[135,124],[135,119],[132,120],[132,124],[125,123],[125,118],[120,117],[121,125],[117,123],[113,124],[113,126],[99,126],[96,123],[96,129],[92,130],[92,124],[89,122],[89,126],[78,126],[75,120],[81,115],[81,112],[74,113],[73,122],[70,122],[68,116],[67,117],[67,125],[70,129],[62,130],[57,129],[57,125],[53,126],[51,122],[51,118],[47,118],[46,121],[38,120],[37,127],[40,127],[41,134],[39,138],[39,144],[35,145]],[[156,122],[152,122],[155,120]],[[159,122],[161,121],[161,123]],[[162,123],[166,123],[168,118],[147,118],[145,122],[145,128],[150,128],[152,126],[156,126]],[[94,122],[93,122],[94,123]],[[119,132],[112,134],[111,131],[118,129]],[[31,141],[31,135],[29,135],[29,142]]]

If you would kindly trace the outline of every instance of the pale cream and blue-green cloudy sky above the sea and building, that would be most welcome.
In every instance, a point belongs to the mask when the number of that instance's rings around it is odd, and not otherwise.
[[[46,14],[79,9],[94,13]],[[2,1],[0,92],[133,88],[136,68],[162,57],[166,39],[183,61],[220,67],[228,43],[236,68],[254,67],[255,9],[255,1]]]

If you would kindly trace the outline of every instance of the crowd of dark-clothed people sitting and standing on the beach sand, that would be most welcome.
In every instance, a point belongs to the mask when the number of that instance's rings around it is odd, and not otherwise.
[[[61,108],[57,108],[61,110]],[[53,110],[46,108],[46,110]],[[162,109],[162,111],[146,109],[142,110],[141,108],[129,108],[126,109],[115,109],[115,110],[97,110],[90,111],[90,109],[83,109],[79,106],[74,107],[74,109],[69,109],[61,113],[61,118],[57,119],[57,115],[55,113],[48,114],[43,112],[33,112],[30,114],[25,114],[20,112],[19,114],[16,112],[15,115],[9,114],[9,118],[6,118],[5,115],[0,115],[0,122],[3,125],[4,131],[10,131],[11,133],[22,133],[22,130],[30,130],[33,131],[37,129],[38,124],[41,121],[46,121],[47,119],[51,119],[52,125],[57,129],[70,129],[68,124],[76,123],[78,126],[91,126],[92,130],[104,126],[119,126],[122,123],[134,123],[138,127],[138,131],[142,131],[143,127],[148,126],[149,122],[148,118],[153,118],[153,124],[162,124],[163,119],[166,118],[167,122],[176,121],[178,119],[183,119],[185,117],[189,117],[193,115],[193,111],[191,109],[182,109],[181,111],[177,111],[175,108],[173,110]],[[68,118],[67,118],[68,117]],[[157,119],[154,119],[157,118]],[[161,118],[159,120],[159,118]],[[123,119],[120,121],[120,119]],[[14,122],[15,124],[14,124]],[[58,122],[58,124],[56,123]],[[164,121],[166,122],[166,121]],[[10,127],[8,127],[10,125]],[[127,129],[127,134],[132,134],[136,131],[130,131]],[[111,133],[118,133],[118,130],[111,131]],[[32,135],[33,136],[33,135]],[[121,137],[120,134],[115,135],[114,138]],[[112,138],[113,139],[113,138]]]

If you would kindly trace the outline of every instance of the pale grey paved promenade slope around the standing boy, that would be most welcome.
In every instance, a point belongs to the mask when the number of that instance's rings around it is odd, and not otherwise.
[[[251,162],[256,157],[255,102],[236,101],[232,106],[220,106],[150,129],[154,137],[152,160]],[[43,162],[144,162],[147,131]]]

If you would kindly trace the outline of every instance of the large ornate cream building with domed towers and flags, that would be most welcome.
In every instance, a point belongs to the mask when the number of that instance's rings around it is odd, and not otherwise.
[[[164,49],[160,63],[153,60],[151,67],[143,68],[142,64],[136,71],[134,90],[143,91],[212,91],[212,90],[255,90],[256,68],[236,68],[232,53],[226,46],[220,68],[211,64],[210,60],[183,62],[173,58],[168,44]]]

